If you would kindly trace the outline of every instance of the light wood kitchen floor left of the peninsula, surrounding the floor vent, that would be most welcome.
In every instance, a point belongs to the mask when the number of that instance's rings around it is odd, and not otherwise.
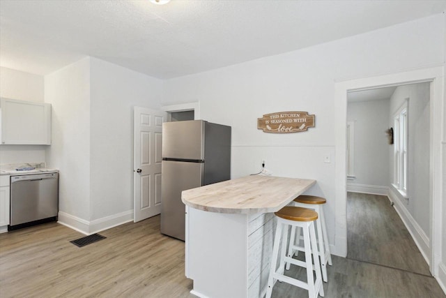
[[[184,242],[160,234],[160,216],[83,234],[57,223],[0,234],[0,297],[194,297]]]

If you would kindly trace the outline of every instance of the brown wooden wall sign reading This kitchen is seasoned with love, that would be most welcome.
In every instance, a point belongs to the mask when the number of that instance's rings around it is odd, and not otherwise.
[[[257,118],[257,128],[265,133],[300,133],[314,127],[314,115],[308,112],[277,112]]]

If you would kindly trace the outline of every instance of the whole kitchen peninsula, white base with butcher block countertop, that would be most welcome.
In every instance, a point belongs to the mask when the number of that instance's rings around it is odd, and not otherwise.
[[[263,297],[275,232],[273,212],[316,184],[247,176],[183,191],[185,274],[198,297]]]

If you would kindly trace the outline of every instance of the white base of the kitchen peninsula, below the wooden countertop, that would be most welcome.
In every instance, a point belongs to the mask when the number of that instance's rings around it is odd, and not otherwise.
[[[275,232],[274,214],[220,214],[186,207],[186,276],[192,294],[263,297]]]

